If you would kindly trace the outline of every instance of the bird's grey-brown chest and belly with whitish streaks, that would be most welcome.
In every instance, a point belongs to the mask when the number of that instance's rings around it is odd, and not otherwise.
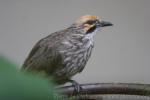
[[[91,56],[93,42],[87,40],[80,43],[66,42],[66,50],[63,54],[63,64],[67,74],[74,75],[81,72]]]

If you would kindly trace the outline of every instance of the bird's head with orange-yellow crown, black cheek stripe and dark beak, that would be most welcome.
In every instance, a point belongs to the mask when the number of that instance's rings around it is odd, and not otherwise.
[[[80,17],[74,25],[81,29],[85,34],[89,34],[102,27],[112,26],[113,24],[107,21],[102,21],[97,16],[85,15]]]

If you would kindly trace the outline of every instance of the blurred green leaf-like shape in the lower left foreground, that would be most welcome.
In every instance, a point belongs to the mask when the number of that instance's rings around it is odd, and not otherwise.
[[[54,85],[40,75],[18,70],[0,57],[0,100],[58,100]]]

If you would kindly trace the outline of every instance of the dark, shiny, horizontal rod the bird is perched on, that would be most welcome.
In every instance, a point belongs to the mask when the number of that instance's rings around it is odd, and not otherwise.
[[[91,83],[81,84],[82,90],[79,94],[82,95],[97,95],[97,94],[123,94],[123,95],[141,95],[150,96],[150,84],[137,83]],[[73,86],[63,86],[57,88],[62,94],[71,96],[74,94]]]

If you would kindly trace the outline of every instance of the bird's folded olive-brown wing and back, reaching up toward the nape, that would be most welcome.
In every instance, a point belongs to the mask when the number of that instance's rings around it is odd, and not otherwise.
[[[29,53],[22,69],[45,71],[52,74],[54,70],[63,67],[63,57],[57,50],[58,48],[60,50],[61,41],[65,40],[69,34],[70,31],[62,30],[41,39]]]

